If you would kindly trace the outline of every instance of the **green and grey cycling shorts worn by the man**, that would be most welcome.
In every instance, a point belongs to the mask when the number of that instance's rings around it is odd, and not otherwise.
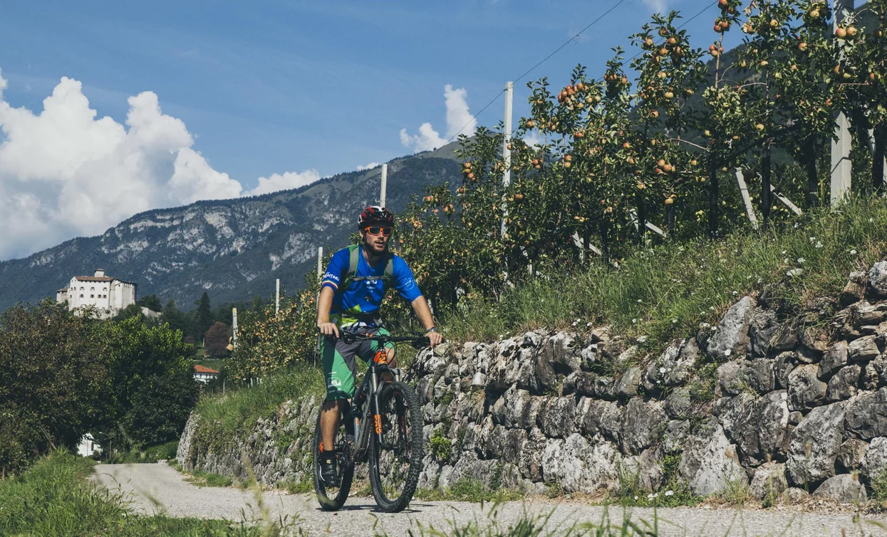
[[[384,328],[360,328],[356,331],[382,336],[391,335]],[[320,339],[320,357],[324,364],[324,377],[326,378],[326,401],[350,399],[354,395],[354,391],[357,389],[355,356],[360,356],[361,360],[369,362],[379,347],[378,341],[345,343],[335,336],[325,336]],[[385,347],[394,348],[394,344],[386,343]]]

